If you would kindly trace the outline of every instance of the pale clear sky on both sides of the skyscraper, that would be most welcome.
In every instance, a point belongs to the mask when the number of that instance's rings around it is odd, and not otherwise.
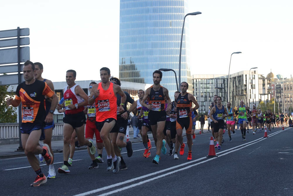
[[[48,3],[50,2],[50,3]],[[191,74],[292,73],[292,0],[190,0],[187,16]],[[1,1],[0,30],[30,29],[30,60],[44,66],[43,78],[100,80],[109,67],[118,77],[120,1]],[[186,13],[187,14],[187,13]],[[179,61],[179,60],[178,60]],[[289,71],[290,70],[290,71]]]

